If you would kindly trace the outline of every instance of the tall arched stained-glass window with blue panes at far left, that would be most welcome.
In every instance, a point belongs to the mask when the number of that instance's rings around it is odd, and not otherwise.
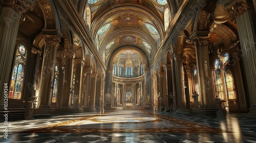
[[[15,62],[12,71],[9,98],[21,99],[23,91],[23,81],[25,76],[25,67],[27,60],[27,50],[24,45],[20,44],[16,49]]]

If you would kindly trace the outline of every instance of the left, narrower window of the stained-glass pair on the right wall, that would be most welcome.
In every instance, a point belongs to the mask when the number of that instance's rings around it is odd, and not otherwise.
[[[215,77],[216,77],[216,85],[217,85],[217,95],[218,98],[224,100],[224,92],[223,92],[223,82],[221,76],[221,66],[220,66],[220,59],[216,59],[214,62],[214,70],[215,70]]]

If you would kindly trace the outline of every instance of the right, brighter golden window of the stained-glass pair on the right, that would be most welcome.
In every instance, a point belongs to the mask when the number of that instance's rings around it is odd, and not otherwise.
[[[232,68],[229,65],[228,53],[223,54],[222,63],[224,65],[224,76],[225,76],[228,99],[237,99],[236,90],[234,88],[233,72],[232,72]]]

